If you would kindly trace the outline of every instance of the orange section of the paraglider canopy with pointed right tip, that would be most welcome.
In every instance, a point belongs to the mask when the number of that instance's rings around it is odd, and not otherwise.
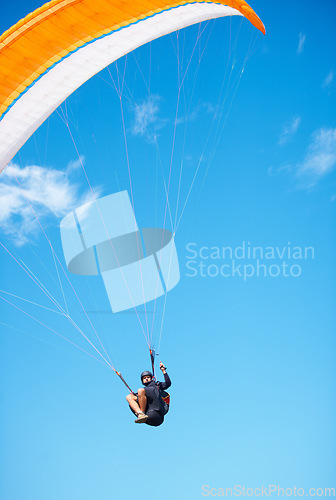
[[[27,87],[69,53],[155,14],[195,3],[205,2],[53,0],[46,3],[0,37],[0,118]],[[236,9],[265,33],[263,23],[244,0],[215,3]]]

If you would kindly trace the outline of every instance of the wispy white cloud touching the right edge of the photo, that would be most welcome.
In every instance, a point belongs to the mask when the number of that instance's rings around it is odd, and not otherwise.
[[[336,128],[316,130],[303,162],[295,167],[300,185],[304,188],[312,188],[335,169]]]

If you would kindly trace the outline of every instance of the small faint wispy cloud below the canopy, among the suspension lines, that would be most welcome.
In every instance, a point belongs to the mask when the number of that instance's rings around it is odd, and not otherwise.
[[[166,120],[159,116],[160,101],[158,95],[152,95],[135,105],[132,125],[134,135],[144,136],[151,142],[156,140],[158,130],[166,123]]]

